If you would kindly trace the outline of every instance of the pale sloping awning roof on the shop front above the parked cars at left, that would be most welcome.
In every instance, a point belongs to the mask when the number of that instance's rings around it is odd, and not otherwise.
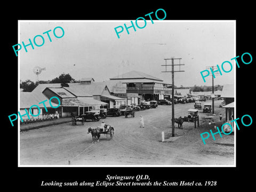
[[[63,99],[63,107],[85,107],[85,106],[99,106],[99,105],[108,105],[108,103],[98,101],[92,97],[82,97],[82,98],[71,98]]]

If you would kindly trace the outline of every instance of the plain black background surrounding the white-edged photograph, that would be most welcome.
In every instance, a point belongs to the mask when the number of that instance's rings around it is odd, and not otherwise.
[[[255,137],[255,7],[250,2],[223,4],[222,2],[181,2],[143,3],[119,1],[117,3],[97,2],[41,2],[13,3],[3,6],[2,12],[2,167],[6,187],[20,189],[63,190],[58,187],[41,187],[42,181],[104,181],[106,175],[137,175],[147,174],[150,181],[217,181],[215,187],[183,187],[182,189],[236,189],[253,186],[254,181],[254,137]],[[236,68],[236,116],[249,114],[253,124],[249,127],[239,123],[241,129],[236,134],[236,167],[18,167],[18,134],[17,123],[11,126],[8,115],[18,111],[18,58],[12,45],[18,43],[18,20],[135,20],[143,15],[164,9],[165,20],[236,20],[236,55],[240,55]],[[160,15],[159,15],[159,18]],[[255,18],[255,17],[254,17]],[[244,65],[241,55],[249,52],[253,61]],[[218,57],[218,55],[213,55]],[[199,71],[198,71],[199,72]],[[223,84],[225,84],[223,82]],[[119,187],[116,187],[119,188]],[[134,187],[130,187],[133,189]],[[151,187],[156,188],[156,187]],[[165,190],[175,190],[181,187],[165,187]],[[71,188],[69,188],[71,189]],[[90,187],[75,187],[74,189],[95,190]],[[103,187],[102,187],[103,189]],[[119,189],[123,189],[119,188]]]

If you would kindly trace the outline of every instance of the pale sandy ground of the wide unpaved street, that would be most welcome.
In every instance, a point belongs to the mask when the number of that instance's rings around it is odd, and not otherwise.
[[[211,102],[211,101],[206,101]],[[204,103],[204,102],[203,102]],[[221,127],[225,119],[225,109],[215,101],[214,121]],[[175,117],[187,115],[194,103],[175,105]],[[86,122],[72,126],[65,123],[37,130],[20,132],[20,165],[234,165],[234,134],[215,135],[205,140],[201,133],[210,129],[204,119],[210,114],[199,110],[200,124],[184,122],[183,129],[175,124],[173,142],[161,142],[161,132],[165,138],[171,136],[171,106],[138,111],[134,118],[107,117],[106,124],[115,129],[113,140],[101,135],[99,143],[92,143],[88,127],[97,127],[101,122]],[[222,122],[219,122],[219,114]],[[140,128],[140,115],[145,128]]]

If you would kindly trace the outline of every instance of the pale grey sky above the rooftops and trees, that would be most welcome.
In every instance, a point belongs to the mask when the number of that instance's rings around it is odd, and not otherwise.
[[[200,74],[208,66],[219,65],[222,62],[233,63],[230,73],[223,73],[214,79],[214,84],[234,84],[235,61],[235,22],[234,21],[172,21],[154,20],[154,24],[147,20],[143,29],[135,26],[124,31],[117,37],[114,28],[131,26],[129,20],[118,21],[20,21],[19,42],[29,44],[36,35],[44,37],[42,46],[24,47],[18,52],[20,79],[30,79],[36,82],[37,76],[33,68],[46,68],[38,78],[42,81],[51,80],[62,73],[69,73],[79,80],[83,77],[93,77],[96,82],[107,81],[111,77],[127,73],[132,70],[161,78],[171,83],[171,73],[165,70],[166,58],[182,58],[180,70],[174,74],[175,86],[212,85],[212,78],[206,77],[204,83]],[[133,21],[135,23],[135,21]],[[134,24],[135,25],[135,24]],[[139,26],[144,21],[138,22]],[[55,27],[62,27],[65,34],[61,38],[53,35]],[[49,41],[45,31],[51,30]],[[118,29],[119,30],[119,29]],[[62,31],[55,30],[57,36]],[[37,44],[42,44],[40,37]],[[34,44],[34,43],[33,43]],[[175,60],[174,64],[178,64]],[[171,60],[167,61],[171,65]],[[230,66],[223,66],[226,70]],[[171,70],[171,68],[167,68]],[[175,70],[179,70],[175,66]]]

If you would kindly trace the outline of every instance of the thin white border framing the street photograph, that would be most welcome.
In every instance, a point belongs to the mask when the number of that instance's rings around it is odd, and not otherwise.
[[[150,20],[147,20],[147,22]],[[154,22],[234,22],[234,57],[236,57],[236,20],[153,20]],[[130,20],[18,20],[18,43],[21,22],[130,22]],[[20,109],[20,53],[18,54],[18,111]],[[230,58],[231,59],[231,58]],[[235,62],[235,61],[234,61]],[[236,63],[234,63],[236,66]],[[236,67],[234,67],[234,102],[236,118]],[[20,165],[20,123],[18,121],[18,167],[236,167],[236,125],[234,126],[234,165]]]

